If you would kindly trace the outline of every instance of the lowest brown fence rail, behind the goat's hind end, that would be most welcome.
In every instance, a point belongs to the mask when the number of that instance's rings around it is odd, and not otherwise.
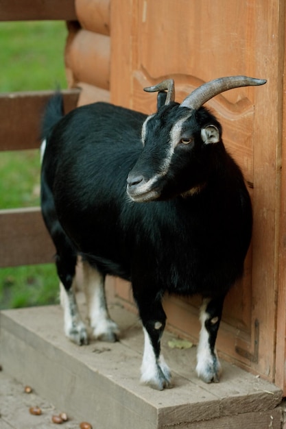
[[[0,210],[0,267],[53,262],[55,253],[40,208]]]

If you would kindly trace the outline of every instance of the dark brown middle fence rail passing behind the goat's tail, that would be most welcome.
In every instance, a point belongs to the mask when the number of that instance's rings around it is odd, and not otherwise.
[[[6,93],[0,95],[0,150],[37,149],[40,122],[54,91]],[[77,106],[79,89],[64,90],[64,110]]]

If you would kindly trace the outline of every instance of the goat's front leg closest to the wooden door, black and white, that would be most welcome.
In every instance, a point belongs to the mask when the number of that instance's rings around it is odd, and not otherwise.
[[[219,382],[221,365],[215,350],[215,340],[222,319],[224,296],[215,299],[206,298],[200,308],[200,340],[197,352],[198,376],[206,383]]]

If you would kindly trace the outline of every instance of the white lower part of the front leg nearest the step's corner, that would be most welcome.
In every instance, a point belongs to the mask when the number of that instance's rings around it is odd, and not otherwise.
[[[150,336],[144,327],[143,332],[144,352],[141,365],[141,382],[150,384],[158,390],[171,387],[171,373],[163,355],[160,354],[158,360],[156,359]]]

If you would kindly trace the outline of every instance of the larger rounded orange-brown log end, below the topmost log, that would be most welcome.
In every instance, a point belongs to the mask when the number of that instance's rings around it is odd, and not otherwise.
[[[110,38],[102,34],[78,31],[71,38],[65,53],[67,69],[73,82],[85,82],[109,90]]]

